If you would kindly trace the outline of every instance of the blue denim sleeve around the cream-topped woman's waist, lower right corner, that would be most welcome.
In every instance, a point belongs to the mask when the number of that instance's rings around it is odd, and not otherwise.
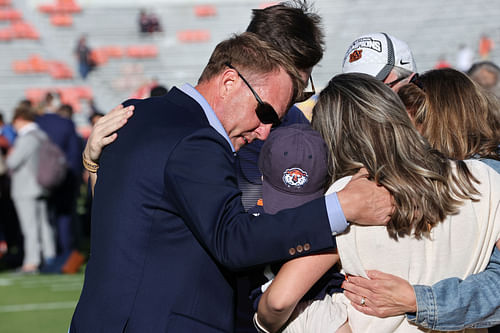
[[[433,286],[413,286],[416,314],[407,319],[433,330],[455,331],[500,324],[500,250],[495,247],[484,272],[465,280],[449,278]]]

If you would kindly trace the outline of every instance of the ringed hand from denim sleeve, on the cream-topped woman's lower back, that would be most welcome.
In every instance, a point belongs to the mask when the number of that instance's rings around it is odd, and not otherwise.
[[[379,271],[367,271],[370,280],[350,276],[343,283],[344,295],[364,314],[380,318],[417,311],[413,287],[400,277]],[[364,305],[361,305],[364,299]]]

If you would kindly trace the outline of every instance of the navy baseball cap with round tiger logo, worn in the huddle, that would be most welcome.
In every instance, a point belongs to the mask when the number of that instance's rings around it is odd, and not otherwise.
[[[275,214],[323,196],[327,159],[326,144],[310,125],[273,130],[259,156],[264,211]]]

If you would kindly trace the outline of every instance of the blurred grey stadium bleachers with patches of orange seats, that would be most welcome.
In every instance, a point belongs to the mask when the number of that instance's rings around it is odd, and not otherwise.
[[[386,0],[377,5],[369,0],[310,2],[323,17],[326,35],[325,55],[313,71],[318,88],[340,71],[349,43],[373,31],[407,41],[420,71],[432,68],[441,55],[453,63],[461,43],[476,50],[482,33],[493,37],[496,47],[491,59],[500,63],[500,6],[495,1],[450,0],[446,6],[433,0]],[[0,110],[9,119],[25,93],[33,94],[30,89],[66,87],[70,93],[65,93],[65,100],[78,101],[82,112],[75,120],[83,126],[88,116],[81,103],[85,98],[67,97],[74,96],[74,87],[86,87],[96,105],[107,112],[153,78],[169,87],[195,84],[217,42],[243,32],[252,8],[274,3],[0,0]],[[159,17],[163,32],[138,31],[138,14],[145,6]],[[77,72],[74,48],[82,34],[87,35],[98,65],[85,81],[73,74]],[[25,63],[33,54],[43,60],[38,74],[28,74],[32,67]],[[130,73],[126,68],[137,70]]]

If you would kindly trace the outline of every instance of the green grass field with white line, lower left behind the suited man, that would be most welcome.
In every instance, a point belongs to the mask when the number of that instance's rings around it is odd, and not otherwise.
[[[66,333],[82,284],[83,273],[0,273],[0,332]]]

